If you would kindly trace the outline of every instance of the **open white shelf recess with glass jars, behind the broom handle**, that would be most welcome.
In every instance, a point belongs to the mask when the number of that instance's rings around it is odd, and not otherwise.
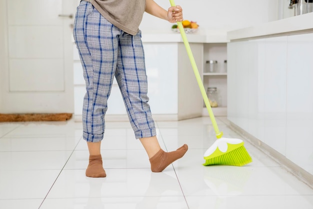
[[[212,107],[214,116],[227,115],[227,69],[224,63],[227,60],[227,44],[226,43],[205,43],[203,44],[203,71],[202,81],[205,90],[208,87],[216,87],[218,95],[218,107]],[[208,72],[206,61],[217,61],[216,71]],[[208,112],[203,102],[203,116],[207,116]]]

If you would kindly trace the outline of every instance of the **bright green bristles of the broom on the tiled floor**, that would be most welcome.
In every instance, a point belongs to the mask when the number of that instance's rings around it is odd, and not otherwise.
[[[235,165],[242,166],[252,162],[252,158],[244,148],[239,146],[229,152],[225,152],[219,156],[204,157],[205,163],[203,165]]]

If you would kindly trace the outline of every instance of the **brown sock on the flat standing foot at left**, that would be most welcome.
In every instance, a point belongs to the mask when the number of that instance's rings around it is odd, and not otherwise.
[[[86,169],[86,176],[94,178],[106,176],[102,165],[102,157],[100,154],[89,156],[89,164]]]

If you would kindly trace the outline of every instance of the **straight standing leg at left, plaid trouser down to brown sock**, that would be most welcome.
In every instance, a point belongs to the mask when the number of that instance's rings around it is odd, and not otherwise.
[[[105,177],[100,155],[104,115],[117,60],[117,34],[90,3],[82,1],[74,22],[74,40],[79,52],[86,94],[83,101],[83,139],[87,141],[89,164],[86,176]]]

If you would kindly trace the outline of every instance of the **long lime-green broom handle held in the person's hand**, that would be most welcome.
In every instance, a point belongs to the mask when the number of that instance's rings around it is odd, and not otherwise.
[[[169,0],[169,2],[170,2],[170,5],[172,7],[176,6],[173,0]],[[204,103],[205,103],[208,115],[209,115],[209,117],[210,117],[210,119],[212,121],[212,125],[213,125],[213,128],[214,128],[215,134],[216,134],[216,138],[221,138],[223,133],[220,132],[218,127],[217,127],[217,123],[216,123],[215,117],[213,115],[213,111],[212,111],[211,105],[210,105],[210,103],[208,101],[208,98],[207,98],[204,86],[202,84],[202,79],[200,77],[198,68],[196,67],[196,64],[195,64],[195,61],[194,61],[194,58],[193,58],[193,55],[192,55],[192,52],[191,52],[191,49],[190,49],[187,37],[186,37],[186,34],[185,34],[184,30],[183,30],[181,22],[177,22],[177,25],[178,25],[178,29],[179,29],[181,37],[182,37],[183,44],[185,45],[185,48],[186,48],[186,51],[187,51],[187,54],[188,54],[188,57],[189,57],[189,60],[190,60],[190,63],[191,63],[192,69],[193,69],[193,73],[195,75],[195,79],[196,79],[196,81],[197,81],[197,83],[199,85],[199,88],[200,88],[200,91],[201,91],[201,94],[202,94],[202,97],[203,97],[203,100],[204,100]]]

